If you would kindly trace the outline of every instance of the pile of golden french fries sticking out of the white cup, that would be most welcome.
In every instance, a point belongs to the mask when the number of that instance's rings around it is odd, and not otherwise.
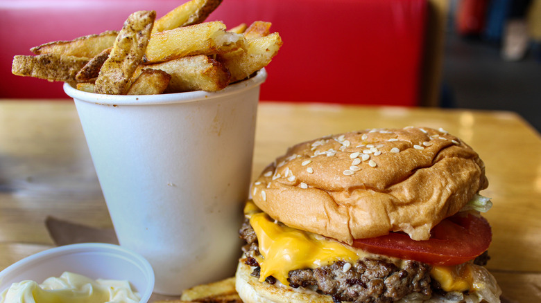
[[[155,19],[134,12],[120,31],[49,42],[13,58],[12,73],[69,82],[81,91],[154,95],[220,91],[267,66],[282,46],[271,23],[227,29],[205,22],[222,0],[191,0]]]

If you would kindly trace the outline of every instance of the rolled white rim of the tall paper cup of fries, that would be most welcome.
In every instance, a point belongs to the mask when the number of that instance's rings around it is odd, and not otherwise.
[[[184,103],[194,102],[198,100],[209,100],[231,95],[233,93],[241,93],[258,86],[265,82],[267,73],[265,68],[257,71],[256,75],[248,80],[230,84],[221,91],[188,91],[184,93],[163,93],[160,95],[104,95],[101,93],[88,93],[79,91],[69,83],[64,83],[64,91],[71,98],[85,102],[105,105],[144,105],[144,104],[169,104],[169,103]]]

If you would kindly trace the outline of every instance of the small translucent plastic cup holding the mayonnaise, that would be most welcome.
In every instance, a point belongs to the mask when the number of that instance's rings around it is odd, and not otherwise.
[[[136,252],[113,244],[71,244],[26,257],[0,272],[0,293],[12,283],[32,280],[38,284],[48,277],[60,277],[69,271],[92,279],[116,279],[130,282],[146,303],[154,288],[151,264]]]

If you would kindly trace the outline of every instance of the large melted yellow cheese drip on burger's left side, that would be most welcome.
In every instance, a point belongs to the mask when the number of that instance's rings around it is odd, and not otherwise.
[[[283,226],[271,220],[264,212],[252,214],[250,224],[259,241],[259,252],[264,259],[259,281],[273,276],[284,285],[288,273],[300,268],[317,268],[343,260],[354,262],[359,255],[338,241]]]

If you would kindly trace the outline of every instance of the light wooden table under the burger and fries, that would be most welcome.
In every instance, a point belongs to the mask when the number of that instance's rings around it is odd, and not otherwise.
[[[488,264],[509,302],[541,302],[541,139],[515,113],[263,102],[253,175],[302,140],[372,127],[443,127],[486,163]],[[111,228],[73,102],[0,100],[0,269],[54,246],[44,219]]]

